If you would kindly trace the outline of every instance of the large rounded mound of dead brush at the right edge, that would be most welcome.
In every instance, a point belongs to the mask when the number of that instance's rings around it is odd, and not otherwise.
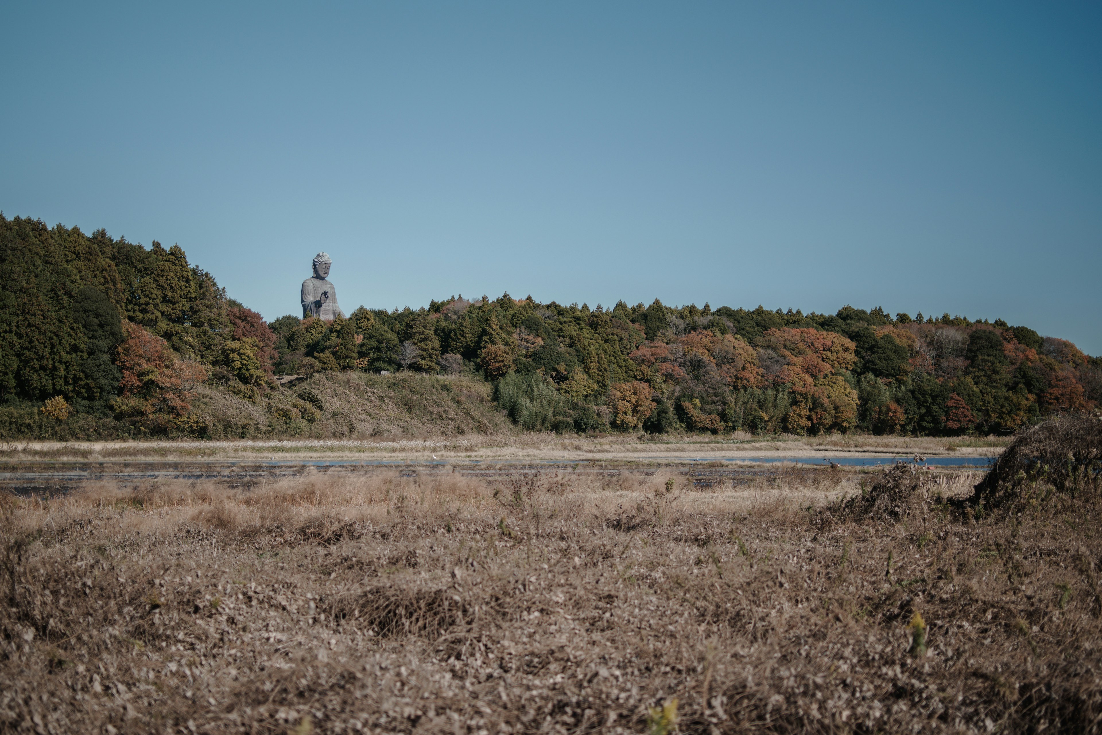
[[[1055,497],[1096,496],[1102,476],[1102,418],[1050,419],[1018,432],[1000,455],[972,501],[987,509],[1019,510]]]

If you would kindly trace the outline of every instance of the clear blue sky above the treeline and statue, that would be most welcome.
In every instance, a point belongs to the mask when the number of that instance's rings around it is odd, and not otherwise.
[[[1099,3],[9,3],[0,209],[267,318],[560,303],[1003,317],[1102,353]]]

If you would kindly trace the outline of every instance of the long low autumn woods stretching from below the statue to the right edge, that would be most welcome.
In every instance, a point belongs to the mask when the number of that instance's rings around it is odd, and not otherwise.
[[[1007,433],[1102,399],[1102,365],[1026,326],[505,294],[347,321],[284,316],[278,369],[468,371],[532,430]]]

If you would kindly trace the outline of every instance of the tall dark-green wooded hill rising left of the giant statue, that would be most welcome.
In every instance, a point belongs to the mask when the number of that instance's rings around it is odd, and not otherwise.
[[[7,436],[201,434],[196,386],[270,388],[271,329],[180,246],[0,214],[0,283]]]

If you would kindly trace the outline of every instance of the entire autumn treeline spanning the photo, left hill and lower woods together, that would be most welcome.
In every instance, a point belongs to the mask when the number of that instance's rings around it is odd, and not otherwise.
[[[478,376],[518,424],[555,431],[1007,433],[1102,401],[1099,358],[1000,320],[504,294],[269,325],[179,246],[2,215],[0,277],[8,435],[207,435],[201,385],[288,414],[293,433],[316,411],[270,401],[285,392],[272,374],[336,370]]]

